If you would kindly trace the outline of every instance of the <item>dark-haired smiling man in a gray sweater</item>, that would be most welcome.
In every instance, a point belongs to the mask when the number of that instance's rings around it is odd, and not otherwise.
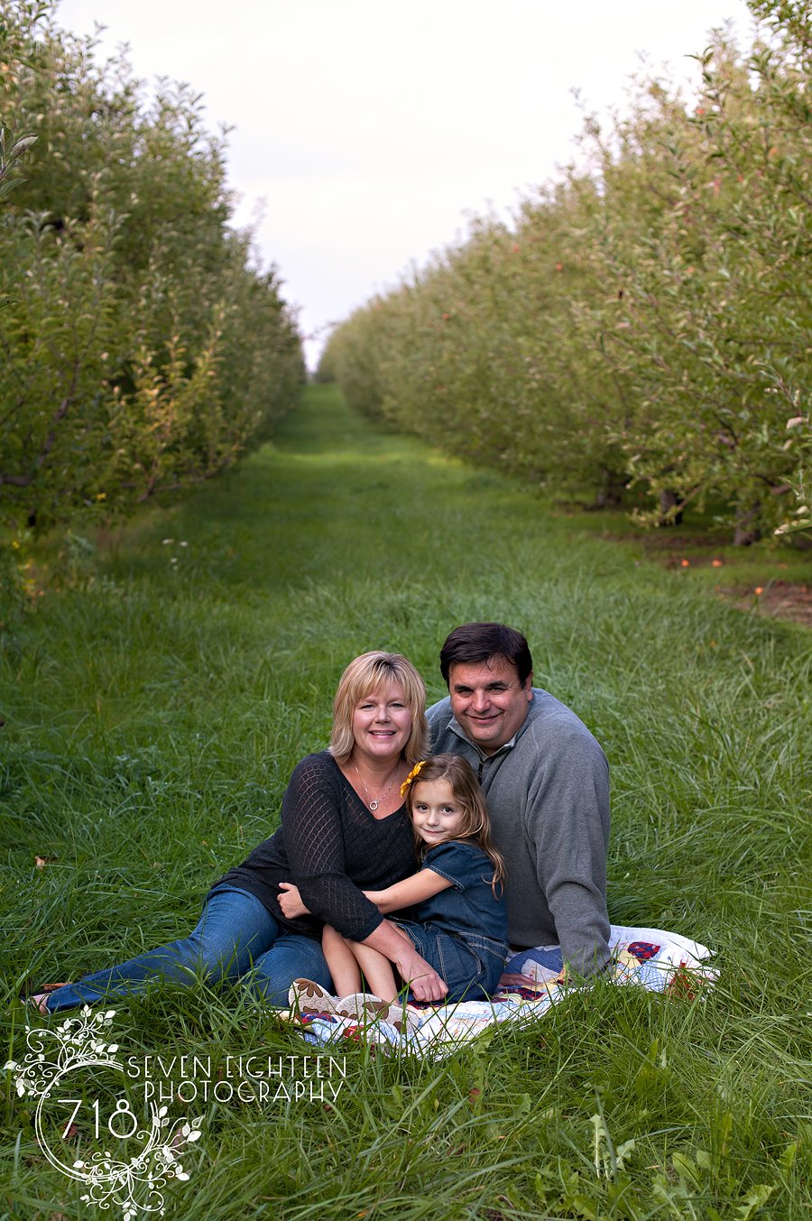
[[[440,668],[449,696],[427,712],[432,750],[466,758],[487,795],[507,864],[510,946],[560,945],[575,974],[601,971],[609,958],[603,751],[569,708],[534,689],[527,641],[513,628],[455,628]]]

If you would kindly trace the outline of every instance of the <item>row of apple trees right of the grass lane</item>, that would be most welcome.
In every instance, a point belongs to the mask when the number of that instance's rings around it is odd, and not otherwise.
[[[358,310],[320,376],[647,523],[694,504],[739,542],[810,529],[810,0],[750,7],[753,46],[713,35],[694,103],[648,79],[629,117],[587,121],[578,167]]]

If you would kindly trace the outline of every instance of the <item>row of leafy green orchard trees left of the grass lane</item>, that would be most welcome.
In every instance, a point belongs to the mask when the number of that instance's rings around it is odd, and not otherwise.
[[[53,9],[0,0],[0,515],[35,529],[206,479],[303,377],[199,98],[147,99]]]

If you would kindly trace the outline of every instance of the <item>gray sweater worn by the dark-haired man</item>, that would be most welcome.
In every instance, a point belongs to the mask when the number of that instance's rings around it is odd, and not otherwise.
[[[600,971],[609,957],[609,768],[595,737],[538,687],[513,739],[490,756],[465,736],[449,698],[427,717],[433,752],[466,758],[487,795],[510,945],[560,945],[578,974]]]

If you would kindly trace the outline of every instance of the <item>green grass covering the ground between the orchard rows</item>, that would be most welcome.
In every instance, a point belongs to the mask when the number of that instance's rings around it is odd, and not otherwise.
[[[537,683],[607,751],[612,919],[719,955],[706,998],[597,984],[440,1066],[350,1043],[330,1110],[181,1107],[204,1137],[167,1216],[807,1215],[812,635],[601,532],[314,387],[238,470],[95,556],[74,543],[61,590],[53,554],[32,553],[45,593],[1,617],[9,1055],[24,1053],[26,980],[190,928],[325,744],[349,658],[403,651],[436,698],[442,640],[477,618],[527,634]],[[116,1010],[127,1055],[308,1050],[236,989]],[[4,1098],[0,1219],[111,1216],[45,1161],[10,1078]]]

